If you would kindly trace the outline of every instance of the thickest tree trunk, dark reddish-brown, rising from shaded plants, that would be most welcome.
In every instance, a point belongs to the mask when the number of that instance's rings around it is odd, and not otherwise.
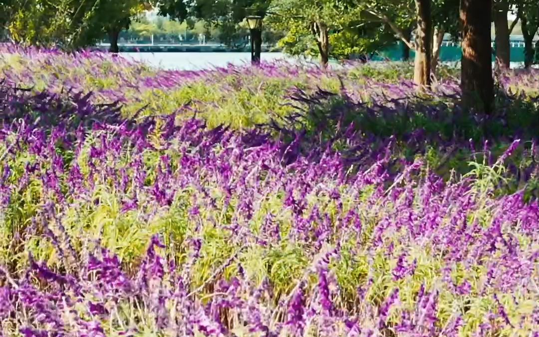
[[[467,108],[482,108],[487,114],[492,112],[494,100],[491,16],[492,0],[460,0],[462,103]]]

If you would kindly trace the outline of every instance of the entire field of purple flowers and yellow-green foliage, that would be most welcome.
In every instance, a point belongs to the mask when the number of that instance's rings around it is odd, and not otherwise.
[[[450,71],[1,48],[0,334],[539,336],[537,73],[468,140]]]

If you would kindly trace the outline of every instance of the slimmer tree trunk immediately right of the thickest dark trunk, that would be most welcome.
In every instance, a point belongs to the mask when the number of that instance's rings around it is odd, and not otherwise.
[[[507,25],[507,0],[498,0],[494,6],[494,39],[496,46],[496,68],[508,69],[510,61],[509,27]]]

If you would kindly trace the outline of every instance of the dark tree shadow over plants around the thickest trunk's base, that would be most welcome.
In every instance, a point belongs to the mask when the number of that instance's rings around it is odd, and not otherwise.
[[[393,171],[420,156],[434,173],[448,178],[468,173],[470,161],[492,164],[513,141],[521,146],[506,162],[509,191],[530,186],[539,197],[539,96],[499,90],[495,114],[466,111],[459,95],[412,93],[392,99],[357,101],[346,91],[313,93],[296,89],[295,113],[262,127],[288,146],[287,162],[298,156],[318,161],[328,149],[349,166],[361,167],[391,146]]]

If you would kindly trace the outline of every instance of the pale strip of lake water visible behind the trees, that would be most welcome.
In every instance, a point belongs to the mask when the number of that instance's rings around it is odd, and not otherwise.
[[[203,70],[212,67],[224,67],[231,63],[244,65],[251,61],[251,53],[121,53],[127,58],[167,70]],[[261,53],[262,61],[287,60],[299,61],[298,58],[284,53]],[[447,62],[448,65],[458,65]],[[523,67],[521,62],[512,62],[512,68]]]

